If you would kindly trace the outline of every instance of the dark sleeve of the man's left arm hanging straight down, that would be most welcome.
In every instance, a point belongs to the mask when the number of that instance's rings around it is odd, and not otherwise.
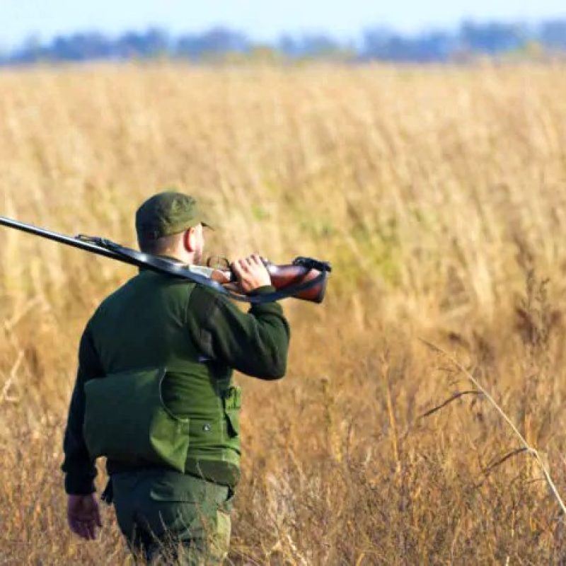
[[[103,370],[87,325],[79,345],[79,369],[71,396],[63,441],[64,461],[61,468],[65,473],[65,491],[69,494],[88,495],[96,491],[94,486],[96,466],[94,460],[88,455],[83,438],[84,384],[88,379],[102,374]]]

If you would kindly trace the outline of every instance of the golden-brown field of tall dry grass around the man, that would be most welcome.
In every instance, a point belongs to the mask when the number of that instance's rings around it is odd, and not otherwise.
[[[566,67],[0,73],[1,214],[134,244],[206,200],[211,253],[335,272],[292,299],[285,379],[244,388],[238,565],[558,565],[566,497]],[[0,229],[0,565],[121,565],[67,530],[62,432],[88,316],[131,268]],[[100,477],[100,485],[103,478]]]

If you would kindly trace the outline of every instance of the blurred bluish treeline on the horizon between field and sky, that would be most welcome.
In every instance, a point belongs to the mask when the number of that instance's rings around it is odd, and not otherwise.
[[[366,28],[357,38],[338,40],[325,33],[282,35],[257,42],[229,28],[173,36],[159,28],[118,36],[96,31],[59,35],[48,41],[29,37],[0,64],[80,62],[96,59],[179,58],[194,62],[330,59],[394,62],[457,62],[478,55],[545,57],[566,53],[566,19],[526,23],[463,22],[456,30],[427,30],[403,35],[388,28]]]

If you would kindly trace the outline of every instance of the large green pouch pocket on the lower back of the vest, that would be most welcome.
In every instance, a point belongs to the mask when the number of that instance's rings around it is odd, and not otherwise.
[[[92,458],[185,472],[189,419],[163,403],[165,368],[125,371],[85,383],[83,436]]]

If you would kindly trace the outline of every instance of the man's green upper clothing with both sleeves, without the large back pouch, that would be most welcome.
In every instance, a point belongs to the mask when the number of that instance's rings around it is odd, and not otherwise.
[[[262,287],[255,293],[273,290]],[[289,325],[279,304],[254,305],[243,313],[208,287],[141,270],[100,304],[81,337],[64,436],[67,493],[95,490],[96,467],[83,439],[84,383],[163,366],[172,371],[163,384],[163,400],[172,412],[191,421],[187,472],[235,485],[238,411],[226,410],[224,402],[226,391],[233,390],[232,370],[279,379],[286,371],[288,346]],[[232,406],[238,408],[239,403]],[[211,427],[212,434],[203,434]],[[107,467],[110,474],[131,469],[110,460]]]

